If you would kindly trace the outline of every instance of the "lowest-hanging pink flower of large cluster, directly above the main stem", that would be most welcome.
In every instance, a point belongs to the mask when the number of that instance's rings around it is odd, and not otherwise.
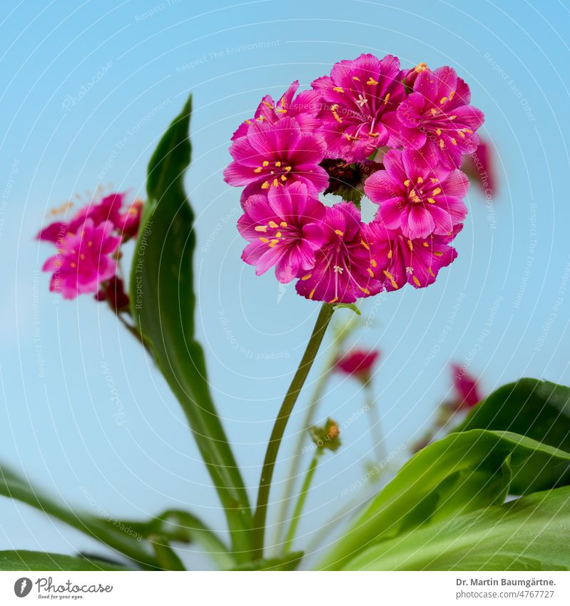
[[[354,204],[327,207],[324,242],[315,253],[315,265],[297,281],[297,293],[314,301],[354,303],[382,290],[375,260]]]

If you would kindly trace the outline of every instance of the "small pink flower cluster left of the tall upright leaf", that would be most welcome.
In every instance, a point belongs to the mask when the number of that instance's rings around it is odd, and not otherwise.
[[[142,202],[126,210],[125,193],[111,193],[87,206],[69,221],[56,221],[36,236],[56,246],[44,271],[51,273],[50,291],[74,299],[94,293],[98,301],[109,301],[113,308],[128,306],[123,281],[117,276],[121,245],[136,236],[141,221]]]

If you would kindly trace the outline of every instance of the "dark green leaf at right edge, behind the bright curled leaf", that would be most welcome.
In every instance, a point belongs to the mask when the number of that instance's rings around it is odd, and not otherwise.
[[[512,431],[570,453],[570,388],[520,379],[494,391],[454,431]]]

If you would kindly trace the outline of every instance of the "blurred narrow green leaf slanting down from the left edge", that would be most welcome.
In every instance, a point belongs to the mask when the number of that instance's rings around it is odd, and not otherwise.
[[[25,478],[21,478],[4,466],[0,467],[0,495],[27,503],[27,505],[85,532],[86,535],[130,557],[142,567],[156,567],[156,560],[145,550],[139,540],[140,537],[131,529],[123,527],[121,530],[121,526],[116,526],[114,522],[110,523],[88,513],[72,510],[64,503],[58,503],[51,497],[42,494]]]

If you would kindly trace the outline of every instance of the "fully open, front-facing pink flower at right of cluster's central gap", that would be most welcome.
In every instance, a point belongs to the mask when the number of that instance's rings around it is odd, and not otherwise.
[[[383,162],[386,170],[367,179],[365,193],[380,204],[378,218],[387,228],[412,239],[442,236],[467,216],[462,198],[469,181],[461,171],[432,168],[412,150],[390,150]]]

